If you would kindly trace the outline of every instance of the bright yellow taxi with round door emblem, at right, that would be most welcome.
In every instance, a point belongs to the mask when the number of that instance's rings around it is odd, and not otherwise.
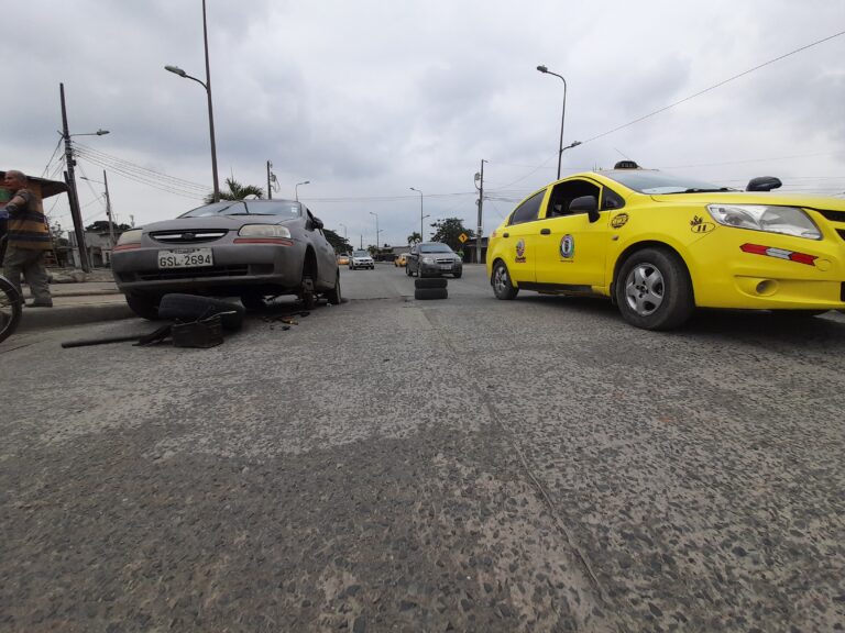
[[[739,191],[627,160],[558,180],[491,235],[493,292],[604,296],[646,330],[695,308],[845,309],[845,200],[772,193],[780,185]]]

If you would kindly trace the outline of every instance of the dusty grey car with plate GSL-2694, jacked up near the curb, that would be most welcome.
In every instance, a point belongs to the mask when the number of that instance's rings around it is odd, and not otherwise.
[[[296,295],[340,303],[340,274],[322,222],[298,201],[227,200],[125,231],[112,273],[129,307],[157,316],[169,292],[239,297],[248,309]]]

